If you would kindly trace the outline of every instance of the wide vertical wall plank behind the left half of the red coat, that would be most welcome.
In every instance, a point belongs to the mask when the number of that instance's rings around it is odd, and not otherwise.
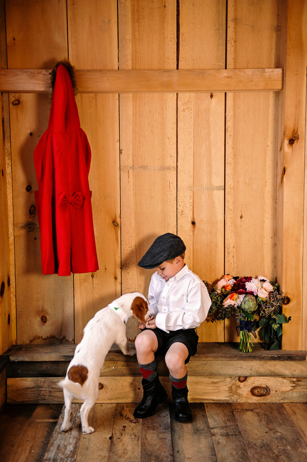
[[[7,1],[6,32],[9,68],[50,69],[67,56],[66,2]],[[10,95],[18,343],[73,341],[72,277],[42,275],[40,231],[30,214],[37,189],[33,151],[49,108],[48,95]]]

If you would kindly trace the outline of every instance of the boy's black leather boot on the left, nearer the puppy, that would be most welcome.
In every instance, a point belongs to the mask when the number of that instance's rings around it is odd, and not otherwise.
[[[143,398],[139,405],[134,409],[133,415],[137,419],[144,419],[155,412],[158,404],[163,403],[168,397],[160,383],[159,376],[148,382],[142,379]]]

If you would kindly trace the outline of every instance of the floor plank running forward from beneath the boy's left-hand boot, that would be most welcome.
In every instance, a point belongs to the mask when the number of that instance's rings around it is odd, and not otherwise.
[[[157,407],[156,413],[142,420],[142,462],[173,462],[169,405]]]

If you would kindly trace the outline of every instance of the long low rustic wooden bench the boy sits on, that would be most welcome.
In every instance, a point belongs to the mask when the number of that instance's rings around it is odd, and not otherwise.
[[[133,347],[133,344],[131,345]],[[15,345],[7,351],[7,402],[62,403],[58,388],[75,344]],[[306,351],[265,351],[255,344],[241,353],[236,343],[199,343],[187,365],[191,402],[305,402]],[[170,396],[169,371],[163,357],[157,369]],[[136,356],[124,356],[114,345],[106,356],[97,403],[138,402],[142,397]],[[74,402],[79,402],[75,400]]]

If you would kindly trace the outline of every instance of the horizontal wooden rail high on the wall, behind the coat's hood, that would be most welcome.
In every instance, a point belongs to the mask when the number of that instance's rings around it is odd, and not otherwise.
[[[48,93],[50,70],[1,69],[2,93]],[[79,93],[280,91],[283,69],[76,71]]]

